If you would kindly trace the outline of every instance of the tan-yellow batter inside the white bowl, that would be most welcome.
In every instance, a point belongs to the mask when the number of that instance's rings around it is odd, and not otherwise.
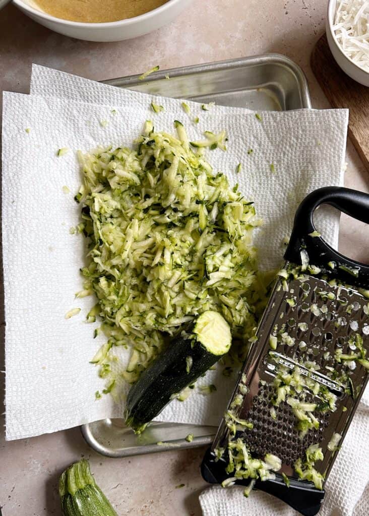
[[[36,0],[48,14],[74,22],[101,23],[133,18],[167,0]]]

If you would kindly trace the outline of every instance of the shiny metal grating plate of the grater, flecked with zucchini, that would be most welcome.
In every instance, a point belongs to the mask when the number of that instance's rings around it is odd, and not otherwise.
[[[333,294],[334,298],[327,299],[328,293]],[[347,354],[354,350],[348,341],[356,333],[361,335],[364,347],[368,349],[367,304],[368,300],[354,288],[330,286],[313,276],[307,280],[288,282],[288,292],[283,289],[283,281],[277,281],[256,335],[258,342],[251,350],[230,401],[231,406],[234,397],[242,392],[243,384],[248,387],[249,392],[236,415],[254,426],[242,433],[237,432],[237,437],[242,437],[253,456],[262,458],[266,453],[275,454],[282,460],[281,471],[295,476],[292,468],[294,462],[304,456],[309,445],[319,443],[323,448],[324,460],[317,462],[315,467],[322,474],[329,473],[335,452],[329,451],[327,445],[334,432],[344,437],[358,402],[356,395],[362,392],[367,380],[362,365],[355,362],[339,364],[334,354],[338,348]],[[293,341],[285,340],[293,345],[284,344],[279,337],[277,348],[272,351],[269,336],[276,325],[278,329],[284,329],[288,337],[292,337]],[[276,361],[292,366],[301,361],[315,362],[320,369],[314,379],[329,386],[338,395],[336,410],[314,413],[319,428],[309,430],[303,439],[295,428],[296,417],[290,405],[281,402],[279,407],[275,407],[277,417],[272,418],[270,414],[273,407],[271,399],[275,393],[271,383],[275,378]],[[335,375],[332,370],[338,372],[338,376],[343,371],[347,373],[356,391],[355,398],[345,392],[346,385],[332,378]],[[306,401],[322,402],[318,396],[307,391]],[[223,421],[212,449],[227,447],[228,436],[229,430]]]

